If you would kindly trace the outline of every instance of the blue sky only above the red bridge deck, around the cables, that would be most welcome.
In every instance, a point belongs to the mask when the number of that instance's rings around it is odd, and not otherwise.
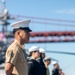
[[[74,20],[75,19],[75,8],[74,8],[74,0],[19,0],[19,1],[9,1],[7,0],[6,4],[8,11],[10,14],[14,15],[25,15],[25,16],[33,16],[33,17],[42,17],[42,18],[52,18],[52,19],[62,19],[62,20]],[[35,20],[35,19],[32,19]],[[45,21],[45,22],[52,22],[53,21]],[[63,24],[60,22],[60,24]],[[66,23],[65,23],[66,24]],[[74,24],[74,23],[69,23]],[[37,29],[36,29],[37,25]],[[45,25],[39,24],[43,29],[40,29],[38,24],[31,24],[31,28],[33,31],[68,31],[68,30],[75,30],[74,27],[68,26],[57,26],[57,25]]]

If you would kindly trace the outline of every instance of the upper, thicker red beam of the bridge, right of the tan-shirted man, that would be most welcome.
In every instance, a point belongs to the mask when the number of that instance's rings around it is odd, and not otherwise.
[[[48,37],[48,36],[74,36],[75,31],[64,31],[64,32],[31,32],[31,37]]]

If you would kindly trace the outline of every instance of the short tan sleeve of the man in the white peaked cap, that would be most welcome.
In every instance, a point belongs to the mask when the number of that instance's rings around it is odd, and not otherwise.
[[[17,58],[18,58],[18,50],[11,50],[6,55],[6,62],[10,62],[13,65],[15,65]]]

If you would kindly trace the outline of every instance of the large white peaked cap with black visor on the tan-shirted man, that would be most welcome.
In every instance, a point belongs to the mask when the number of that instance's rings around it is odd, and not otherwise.
[[[10,26],[13,29],[23,29],[23,30],[31,31],[29,29],[29,23],[30,23],[30,20],[22,20],[22,21],[18,21],[18,22],[12,23]]]

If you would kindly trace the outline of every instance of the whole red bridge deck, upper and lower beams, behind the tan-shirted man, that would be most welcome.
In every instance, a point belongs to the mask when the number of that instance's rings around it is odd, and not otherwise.
[[[7,39],[13,38],[13,33],[4,34]],[[63,32],[31,32],[29,43],[46,43],[46,42],[75,42],[75,31]]]

